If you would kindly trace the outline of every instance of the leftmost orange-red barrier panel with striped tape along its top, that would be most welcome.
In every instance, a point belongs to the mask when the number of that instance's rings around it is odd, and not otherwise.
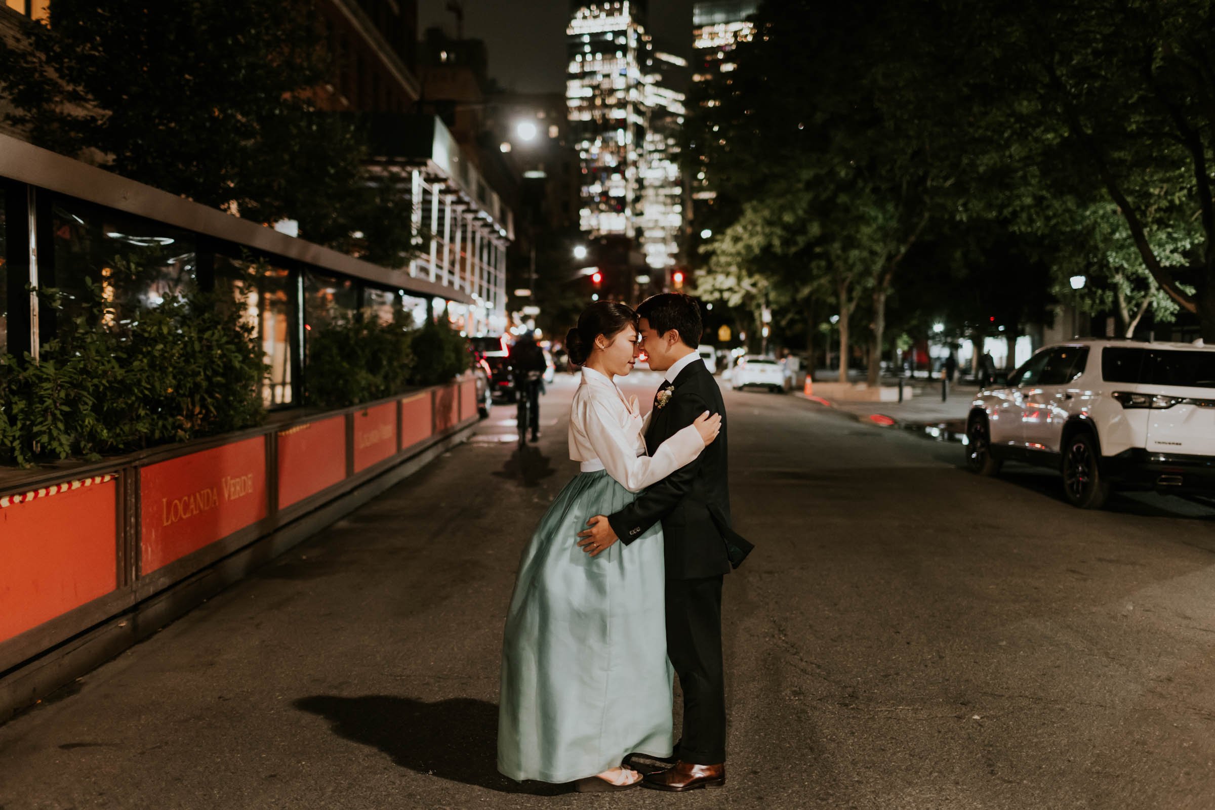
[[[0,499],[0,641],[118,588],[113,476]]]

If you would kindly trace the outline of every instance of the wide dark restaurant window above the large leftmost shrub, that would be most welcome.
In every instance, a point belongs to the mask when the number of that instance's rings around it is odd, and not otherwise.
[[[51,220],[51,281],[63,294],[62,318],[81,315],[98,296],[102,323],[122,323],[141,307],[197,289],[198,257],[188,231],[68,198],[53,203]]]

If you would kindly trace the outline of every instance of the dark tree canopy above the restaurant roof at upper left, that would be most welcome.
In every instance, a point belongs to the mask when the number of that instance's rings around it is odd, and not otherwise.
[[[39,146],[400,266],[400,194],[368,174],[356,123],[315,103],[332,75],[316,21],[282,0],[55,0],[0,44],[0,94]]]

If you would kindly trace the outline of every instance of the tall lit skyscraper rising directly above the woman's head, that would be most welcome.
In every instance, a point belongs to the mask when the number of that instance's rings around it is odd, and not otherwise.
[[[649,52],[639,0],[571,4],[566,101],[582,163],[580,227],[633,237],[645,142],[643,67]]]

